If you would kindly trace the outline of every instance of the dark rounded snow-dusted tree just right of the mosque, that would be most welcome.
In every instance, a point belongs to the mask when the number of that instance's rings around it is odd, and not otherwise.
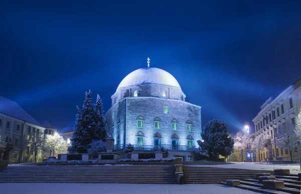
[[[213,155],[228,156],[231,154],[234,141],[228,133],[226,122],[219,119],[209,121],[204,126],[201,136],[203,141],[198,140],[198,144],[203,151],[208,151],[210,159]]]

